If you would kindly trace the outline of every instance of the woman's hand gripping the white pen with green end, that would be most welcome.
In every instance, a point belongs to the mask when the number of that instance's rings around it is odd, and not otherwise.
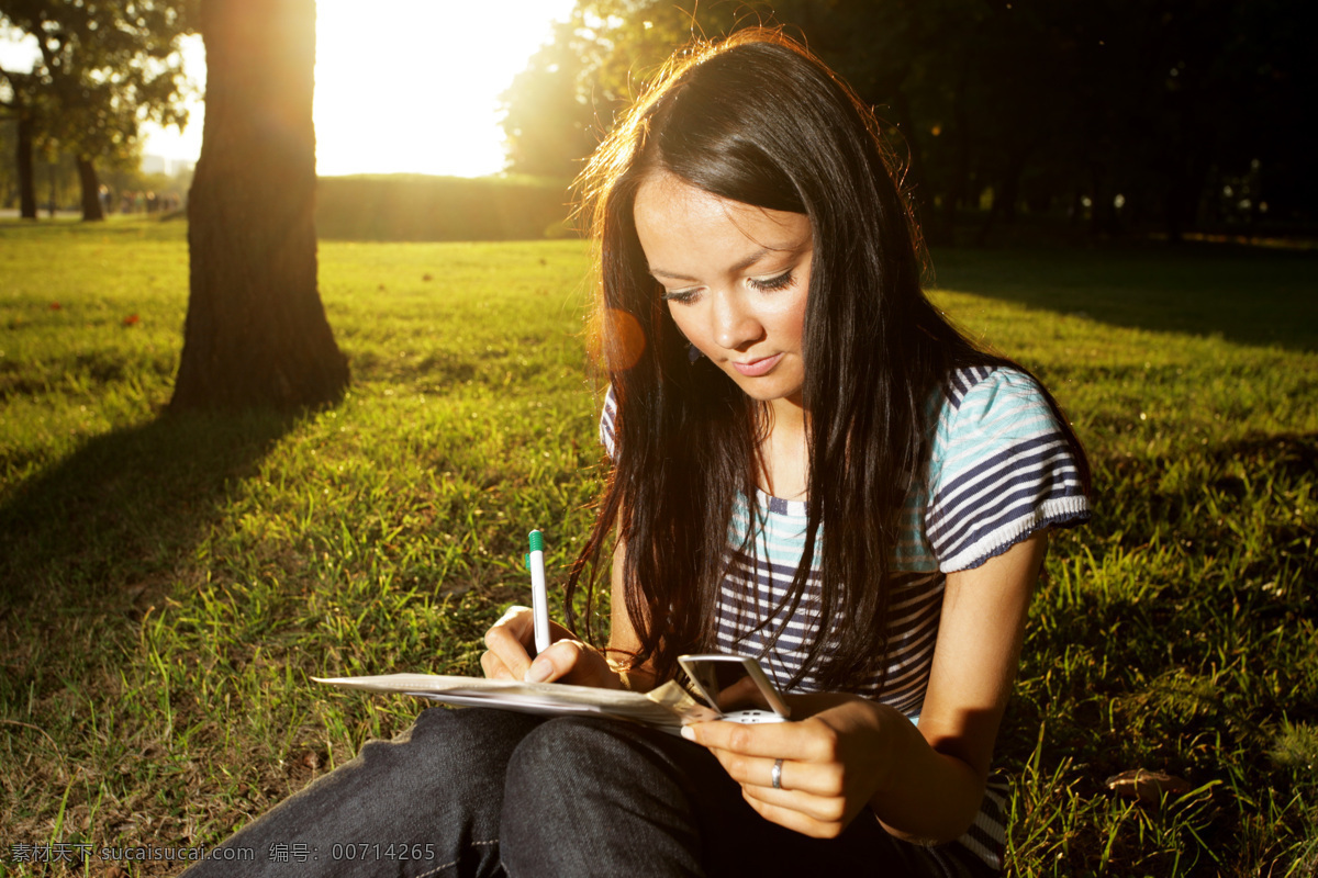
[[[535,642],[535,624],[531,608],[509,607],[485,632],[481,670],[492,679],[622,688],[622,677],[604,654],[555,621],[550,623],[550,646],[532,659],[530,646]]]

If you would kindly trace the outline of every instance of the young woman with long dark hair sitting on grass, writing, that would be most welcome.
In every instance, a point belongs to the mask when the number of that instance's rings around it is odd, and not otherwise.
[[[780,36],[679,57],[583,180],[613,467],[569,592],[612,561],[612,633],[532,661],[514,608],[482,666],[646,690],[754,656],[797,721],[428,710],[196,874],[992,874],[1045,533],[1087,517],[1075,437],[925,299],[873,118]]]

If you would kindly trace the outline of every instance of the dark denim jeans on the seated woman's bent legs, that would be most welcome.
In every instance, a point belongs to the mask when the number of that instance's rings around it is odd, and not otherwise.
[[[221,848],[252,853],[187,878],[975,874],[869,812],[833,840],[768,823],[679,737],[481,708],[422,712]]]

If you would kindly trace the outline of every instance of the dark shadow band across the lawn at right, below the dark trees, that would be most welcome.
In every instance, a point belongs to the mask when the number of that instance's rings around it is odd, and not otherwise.
[[[1318,351],[1318,253],[1181,247],[957,249],[937,287],[1116,326]]]

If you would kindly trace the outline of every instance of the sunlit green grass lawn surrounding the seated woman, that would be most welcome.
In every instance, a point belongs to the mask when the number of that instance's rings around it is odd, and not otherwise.
[[[1313,875],[1318,261],[936,265],[940,304],[1054,388],[1095,465],[999,740],[1012,874]],[[0,854],[219,841],[416,710],[308,677],[474,673],[526,599],[525,533],[558,570],[585,533],[584,247],[323,244],[320,266],[341,405],[161,417],[182,225],[0,224]],[[1189,791],[1106,787],[1139,767]]]

